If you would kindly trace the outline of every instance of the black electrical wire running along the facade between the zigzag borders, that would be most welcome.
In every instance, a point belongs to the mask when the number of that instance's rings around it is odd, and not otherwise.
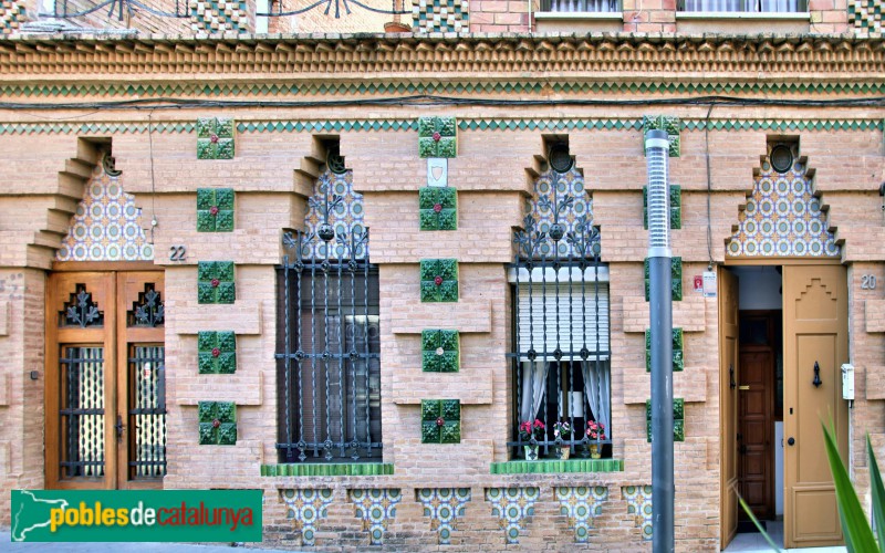
[[[414,95],[353,100],[191,100],[139,98],[112,102],[0,102],[0,109],[184,109],[225,107],[352,107],[352,106],[771,106],[771,107],[885,107],[885,96],[835,100],[742,98],[735,96],[697,96],[674,98],[520,98],[455,97]]]

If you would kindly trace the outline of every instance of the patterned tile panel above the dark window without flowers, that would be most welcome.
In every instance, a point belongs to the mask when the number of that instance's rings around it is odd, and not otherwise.
[[[308,199],[304,233],[316,234],[324,223],[326,189],[330,201],[329,225],[335,236],[361,237],[368,232],[363,222],[363,195],[353,190],[353,171],[335,174],[326,169],[314,184],[313,196]],[[336,240],[309,240],[302,242],[301,254],[305,259],[365,259],[364,244],[356,246],[355,254],[352,254],[348,246]]]

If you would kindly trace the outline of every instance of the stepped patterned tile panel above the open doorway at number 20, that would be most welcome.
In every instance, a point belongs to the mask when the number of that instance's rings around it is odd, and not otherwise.
[[[726,252],[733,258],[841,255],[821,200],[812,194],[811,179],[799,160],[782,175],[766,157]]]

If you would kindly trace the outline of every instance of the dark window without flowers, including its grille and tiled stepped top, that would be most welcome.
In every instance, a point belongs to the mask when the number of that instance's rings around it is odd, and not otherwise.
[[[283,239],[281,462],[377,459],[382,447],[377,268],[368,261],[362,196],[337,161],[316,184],[305,230]]]

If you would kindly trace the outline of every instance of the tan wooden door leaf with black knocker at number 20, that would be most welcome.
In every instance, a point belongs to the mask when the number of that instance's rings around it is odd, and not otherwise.
[[[783,268],[784,546],[842,542],[821,421],[835,422],[847,459],[847,406],[841,365],[848,362],[847,284],[840,265]],[[815,378],[815,366],[819,378]]]

